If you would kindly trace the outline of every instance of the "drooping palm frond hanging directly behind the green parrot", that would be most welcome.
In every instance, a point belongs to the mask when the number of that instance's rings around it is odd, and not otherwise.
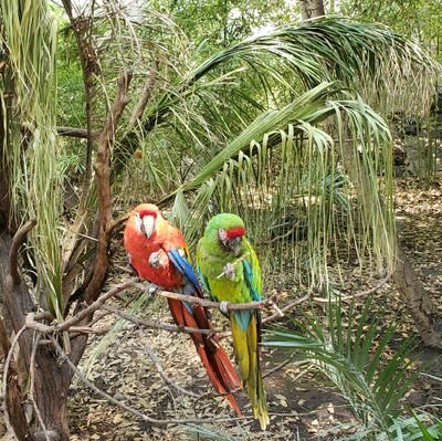
[[[197,190],[187,221],[180,210],[187,239],[194,243],[213,212],[234,211],[271,263],[266,270],[285,277],[333,282],[327,263],[338,241],[356,248],[361,265],[391,266],[390,134],[351,98],[337,83],[324,83],[259,116],[168,197]]]

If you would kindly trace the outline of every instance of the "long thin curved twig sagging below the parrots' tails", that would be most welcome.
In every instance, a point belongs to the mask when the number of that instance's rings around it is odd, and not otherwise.
[[[59,353],[59,356],[69,365],[69,367],[72,369],[72,371],[76,375],[76,377],[84,384],[86,385],[91,390],[93,390],[95,393],[99,395],[101,397],[105,398],[109,402],[120,407],[124,410],[127,410],[129,413],[135,414],[136,417],[139,417],[143,421],[149,422],[150,424],[154,426],[168,426],[168,424],[202,424],[202,423],[214,423],[214,422],[221,422],[221,421],[239,421],[240,418],[209,418],[209,419],[198,419],[198,418],[191,418],[191,419],[170,419],[170,420],[158,420],[156,418],[149,417],[139,410],[133,408],[131,406],[125,405],[124,402],[117,400],[116,398],[112,397],[107,392],[103,391],[102,389],[98,389],[92,381],[90,381],[80,371],[80,369],[71,361],[69,356],[64,353],[63,348],[59,345],[56,339],[54,337],[51,337],[51,342],[55,347],[55,350]],[[249,417],[244,417],[249,418]],[[252,418],[252,417],[250,417]]]

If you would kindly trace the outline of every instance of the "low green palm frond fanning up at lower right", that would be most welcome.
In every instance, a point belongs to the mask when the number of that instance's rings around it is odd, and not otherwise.
[[[400,412],[398,403],[417,376],[409,374],[413,345],[406,340],[388,357],[394,325],[379,335],[381,318],[370,318],[370,306],[369,300],[360,315],[350,308],[345,317],[339,303],[329,303],[326,321],[313,312],[294,322],[302,334],[272,328],[264,335],[264,345],[295,351],[312,363],[348,400],[366,435],[383,433],[391,439],[390,426]],[[379,342],[376,348],[373,340]]]

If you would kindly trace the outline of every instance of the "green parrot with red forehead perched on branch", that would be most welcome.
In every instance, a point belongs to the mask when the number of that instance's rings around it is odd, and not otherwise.
[[[197,265],[202,282],[212,298],[222,305],[223,302],[262,300],[260,263],[245,233],[240,217],[221,213],[209,221],[198,243]],[[262,430],[265,430],[270,419],[257,346],[261,340],[261,311],[230,311],[229,318],[242,386],[248,388],[254,418],[260,420]]]

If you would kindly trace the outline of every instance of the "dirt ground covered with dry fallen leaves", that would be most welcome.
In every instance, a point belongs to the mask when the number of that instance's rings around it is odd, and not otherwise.
[[[422,189],[418,181],[409,178],[398,180],[397,188],[397,216],[402,224],[400,234],[406,240],[407,253],[442,316],[442,179],[431,190]],[[355,269],[348,264],[347,270],[351,279],[348,293],[367,290],[366,280],[361,276],[360,281],[355,282]],[[120,273],[116,272],[109,284],[119,281]],[[125,304],[125,300],[116,302],[119,307]],[[392,349],[400,340],[415,334],[407,307],[392,283],[386,283],[375,293],[375,309],[377,305],[382,305],[382,308],[389,312],[386,325],[390,322],[399,324]],[[309,306],[305,304],[302,307]],[[298,312],[299,309],[294,314]],[[137,314],[160,323],[170,323],[169,312],[161,298],[150,301],[149,305],[141,307]],[[215,316],[217,323],[219,319],[222,317]],[[104,321],[109,321],[109,317]],[[92,338],[91,347],[96,347],[98,339]],[[162,368],[176,384],[193,393],[206,396],[196,399],[165,385],[145,354],[146,343],[155,348]],[[228,350],[231,350],[229,343],[224,343]],[[157,419],[204,420],[207,424],[200,423],[198,428],[207,428],[206,435],[198,437],[194,426],[161,428],[147,424],[109,405],[75,380],[70,400],[72,441],[203,440],[217,439],[217,435],[232,440],[332,440],[356,430],[356,421],[345,400],[325,387],[311,368],[288,363],[273,371],[286,359],[286,356],[275,349],[263,349],[264,376],[271,374],[264,380],[271,424],[267,431],[262,432],[253,419],[235,420],[225,402],[210,395],[211,388],[206,380],[204,370],[187,335],[140,332],[135,325],[125,324],[118,334],[109,338],[109,344],[108,349],[90,365],[90,378],[96,386]],[[424,372],[442,377],[440,354],[424,349],[415,351],[413,357],[417,365],[428,365]],[[85,368],[85,360],[81,367]],[[418,407],[440,405],[441,397],[441,382],[421,376],[408,393],[407,400],[412,407]],[[244,413],[250,416],[245,393],[241,392],[238,399]],[[211,423],[213,418],[227,421],[218,421],[214,426]]]

